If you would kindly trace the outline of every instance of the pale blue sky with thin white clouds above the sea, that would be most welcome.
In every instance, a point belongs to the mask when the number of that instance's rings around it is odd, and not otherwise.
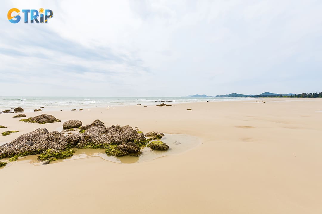
[[[0,4],[0,96],[322,91],[320,0]],[[11,8],[54,16],[13,24]]]

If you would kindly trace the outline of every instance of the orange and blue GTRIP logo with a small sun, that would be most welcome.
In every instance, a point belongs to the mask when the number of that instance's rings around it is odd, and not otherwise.
[[[21,12],[23,13],[24,23],[28,23],[28,17],[30,19],[30,23],[48,23],[48,19],[51,19],[54,16],[52,10],[45,10],[43,8],[39,8],[39,10],[21,10]],[[7,16],[8,20],[14,24],[18,23],[21,19],[20,10],[17,8],[11,8],[8,11]]]

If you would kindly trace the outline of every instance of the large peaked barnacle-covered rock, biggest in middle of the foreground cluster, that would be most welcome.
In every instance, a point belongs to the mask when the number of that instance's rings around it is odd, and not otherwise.
[[[100,121],[81,126],[79,134],[67,136],[69,144],[76,148],[106,148],[110,144],[118,145],[121,143],[134,142],[134,140],[146,140],[143,133],[137,133],[132,127],[126,125],[106,126]]]

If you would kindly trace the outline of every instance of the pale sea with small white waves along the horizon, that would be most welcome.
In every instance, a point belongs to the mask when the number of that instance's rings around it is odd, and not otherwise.
[[[0,110],[14,107],[35,109],[68,109],[70,107],[109,107],[125,105],[156,105],[158,102],[175,103],[223,102],[250,100],[254,98],[193,98],[193,97],[0,97]],[[171,102],[171,103],[170,103]]]

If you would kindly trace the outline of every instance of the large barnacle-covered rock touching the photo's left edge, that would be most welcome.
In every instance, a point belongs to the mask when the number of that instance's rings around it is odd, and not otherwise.
[[[49,133],[47,129],[36,129],[0,146],[0,159],[13,156],[40,154],[48,149],[67,150],[71,145],[59,132]]]

